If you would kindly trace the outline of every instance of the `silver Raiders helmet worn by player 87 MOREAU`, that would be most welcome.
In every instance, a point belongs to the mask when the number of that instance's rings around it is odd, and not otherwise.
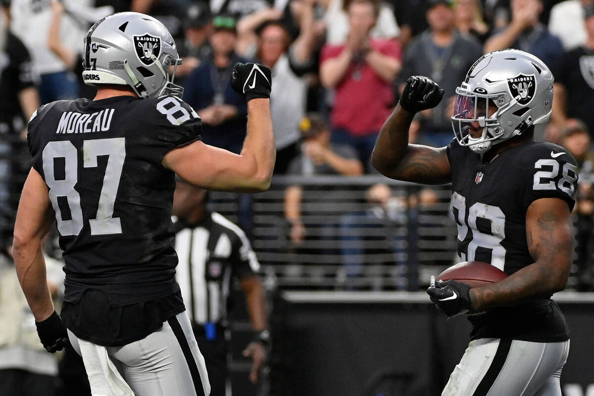
[[[83,80],[89,85],[129,85],[143,98],[167,94],[181,98],[184,88],[173,84],[181,63],[167,28],[138,12],[103,18],[84,39]]]

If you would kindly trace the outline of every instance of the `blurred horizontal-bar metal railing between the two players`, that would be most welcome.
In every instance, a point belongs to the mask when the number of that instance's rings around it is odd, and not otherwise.
[[[383,183],[386,204],[366,191]],[[301,243],[289,237],[285,192],[302,188]],[[285,290],[418,290],[455,259],[449,186],[383,176],[277,176],[254,195],[213,192],[210,207],[251,237],[264,277]]]

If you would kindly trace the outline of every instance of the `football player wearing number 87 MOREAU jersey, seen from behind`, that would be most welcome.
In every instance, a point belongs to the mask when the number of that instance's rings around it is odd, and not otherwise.
[[[270,184],[270,69],[233,68],[233,88],[249,113],[243,150],[233,154],[200,141],[200,118],[173,84],[179,62],[159,21],[110,15],[84,42],[83,78],[96,85],[94,100],[46,104],[29,122],[33,166],[14,230],[17,274],[43,346],[53,352],[69,339],[93,394],[208,394],[175,281],[175,174],[207,189],[253,192]],[[54,221],[66,273],[61,317],[41,251]]]

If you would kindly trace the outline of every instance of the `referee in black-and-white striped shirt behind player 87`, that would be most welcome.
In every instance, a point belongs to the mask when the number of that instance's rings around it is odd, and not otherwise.
[[[269,335],[264,289],[257,276],[258,259],[238,226],[207,210],[207,197],[205,190],[178,178],[173,196],[173,215],[177,216],[173,224],[175,251],[179,258],[176,279],[206,361],[210,396],[223,396],[228,351],[226,308],[232,277],[238,278],[245,293],[254,329],[254,340],[244,350],[244,356],[253,360],[249,379],[254,383],[266,360]]]

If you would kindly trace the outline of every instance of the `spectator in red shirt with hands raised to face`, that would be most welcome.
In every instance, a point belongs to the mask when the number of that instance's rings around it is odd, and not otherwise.
[[[320,65],[322,84],[334,89],[332,140],[352,145],[368,169],[375,140],[394,102],[392,82],[402,66],[398,42],[369,36],[379,10],[377,1],[350,2],[346,43],[324,46]]]

